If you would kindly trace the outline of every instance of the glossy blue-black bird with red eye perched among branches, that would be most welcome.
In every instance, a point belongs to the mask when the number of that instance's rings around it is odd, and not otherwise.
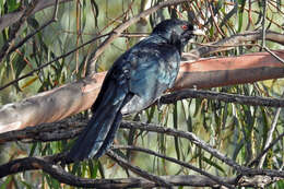
[[[102,156],[113,143],[122,115],[149,107],[173,86],[181,51],[193,35],[190,23],[165,20],[149,37],[121,55],[108,71],[92,107],[93,117],[67,160]]]

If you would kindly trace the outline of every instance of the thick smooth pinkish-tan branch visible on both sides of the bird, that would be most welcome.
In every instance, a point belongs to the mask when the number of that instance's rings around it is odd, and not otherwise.
[[[284,51],[277,51],[284,58]],[[250,74],[253,72],[253,74]],[[54,122],[88,109],[99,92],[104,73],[40,93],[0,109],[0,132]],[[268,52],[184,63],[171,91],[213,87],[284,76],[284,67]]]

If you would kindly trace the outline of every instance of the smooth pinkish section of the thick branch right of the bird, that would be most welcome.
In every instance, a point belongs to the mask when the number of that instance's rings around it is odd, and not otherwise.
[[[214,48],[212,50],[214,50]],[[279,57],[284,59],[284,51],[275,52]],[[282,62],[269,52],[203,59],[192,63],[181,64],[171,91],[190,88],[192,86],[196,88],[209,88],[252,83],[272,78],[277,79],[283,78],[283,69],[284,66]]]

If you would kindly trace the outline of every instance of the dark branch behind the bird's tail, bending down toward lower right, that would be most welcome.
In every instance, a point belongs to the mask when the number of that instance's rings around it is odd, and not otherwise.
[[[73,123],[72,123],[73,122]],[[69,125],[71,123],[71,125]],[[20,131],[10,131],[7,133],[0,134],[0,143],[7,142],[7,141],[17,141],[17,140],[25,140],[25,139],[46,139],[49,138],[50,135],[64,135],[62,139],[68,139],[68,137],[72,135],[75,137],[76,134],[80,133],[80,131],[83,129],[83,126],[85,126],[86,122],[80,122],[80,121],[64,121],[64,122],[58,122],[56,125],[49,126],[49,123],[42,125],[40,127],[35,127],[35,128],[26,128]],[[56,127],[60,126],[60,130],[57,130]],[[165,128],[161,127],[158,125],[153,125],[153,123],[143,123],[143,122],[133,122],[133,121],[122,121],[120,128],[126,128],[126,129],[140,129],[140,130],[145,130],[145,131],[152,131],[152,132],[157,132],[157,133],[165,133],[167,135],[173,135],[173,137],[179,137],[184,139],[188,139],[192,143],[194,143],[197,146],[205,150],[206,152],[211,153],[213,156],[216,158],[221,160],[222,162],[226,163],[227,165],[234,167],[237,172],[241,169],[241,166],[232,161],[230,158],[226,157],[224,154],[218,152],[217,150],[214,150],[212,146],[206,144],[205,141],[199,139],[194,133],[192,132],[187,132],[187,131],[181,131],[181,130],[176,130],[171,128]],[[66,132],[67,131],[67,132]],[[70,134],[72,133],[72,134]],[[38,135],[38,137],[36,137]],[[26,138],[27,137],[27,138]],[[55,138],[52,138],[55,140]],[[57,138],[57,140],[62,140],[60,138]]]

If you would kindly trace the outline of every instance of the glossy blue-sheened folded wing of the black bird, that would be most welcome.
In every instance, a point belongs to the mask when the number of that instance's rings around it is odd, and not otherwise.
[[[127,61],[130,64],[129,92],[134,96],[123,106],[121,113],[132,114],[150,106],[173,85],[180,56],[174,46],[150,43],[132,48]]]

